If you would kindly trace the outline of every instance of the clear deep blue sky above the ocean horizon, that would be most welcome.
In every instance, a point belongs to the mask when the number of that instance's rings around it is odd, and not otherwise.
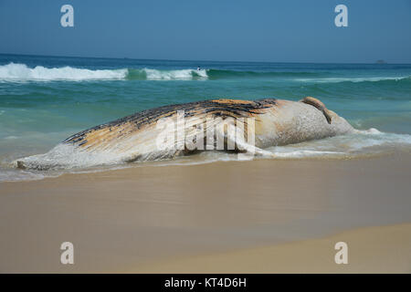
[[[411,63],[411,0],[0,0],[0,53]]]

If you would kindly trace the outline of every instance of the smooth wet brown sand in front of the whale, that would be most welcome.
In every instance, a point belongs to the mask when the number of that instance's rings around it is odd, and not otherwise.
[[[344,272],[340,238],[353,272],[409,272],[409,173],[397,153],[0,183],[0,272]],[[394,226],[361,229],[380,225]],[[60,264],[66,241],[74,265]]]

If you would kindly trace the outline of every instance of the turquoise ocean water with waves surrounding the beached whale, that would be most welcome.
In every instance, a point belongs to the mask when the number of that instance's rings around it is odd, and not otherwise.
[[[0,55],[0,181],[65,172],[21,171],[13,162],[45,153],[79,130],[136,111],[202,99],[299,100],[306,96],[321,99],[360,131],[270,148],[279,159],[340,159],[411,150],[410,64]],[[231,159],[232,154],[207,152],[154,164]],[[66,171],[101,169],[92,166]]]

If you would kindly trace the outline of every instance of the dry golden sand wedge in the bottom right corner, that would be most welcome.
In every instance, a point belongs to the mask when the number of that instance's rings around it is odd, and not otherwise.
[[[336,243],[348,246],[336,264]],[[227,253],[172,258],[126,271],[139,274],[411,273],[411,224],[350,229],[336,235]]]

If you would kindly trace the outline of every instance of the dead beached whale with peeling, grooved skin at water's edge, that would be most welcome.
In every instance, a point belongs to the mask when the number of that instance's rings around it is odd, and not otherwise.
[[[232,131],[241,124],[238,128],[244,139],[233,140]],[[209,149],[264,155],[270,146],[349,132],[353,127],[345,119],[311,97],[300,101],[212,99],[143,110],[80,131],[46,154],[17,160],[16,166],[44,170],[154,161]]]

